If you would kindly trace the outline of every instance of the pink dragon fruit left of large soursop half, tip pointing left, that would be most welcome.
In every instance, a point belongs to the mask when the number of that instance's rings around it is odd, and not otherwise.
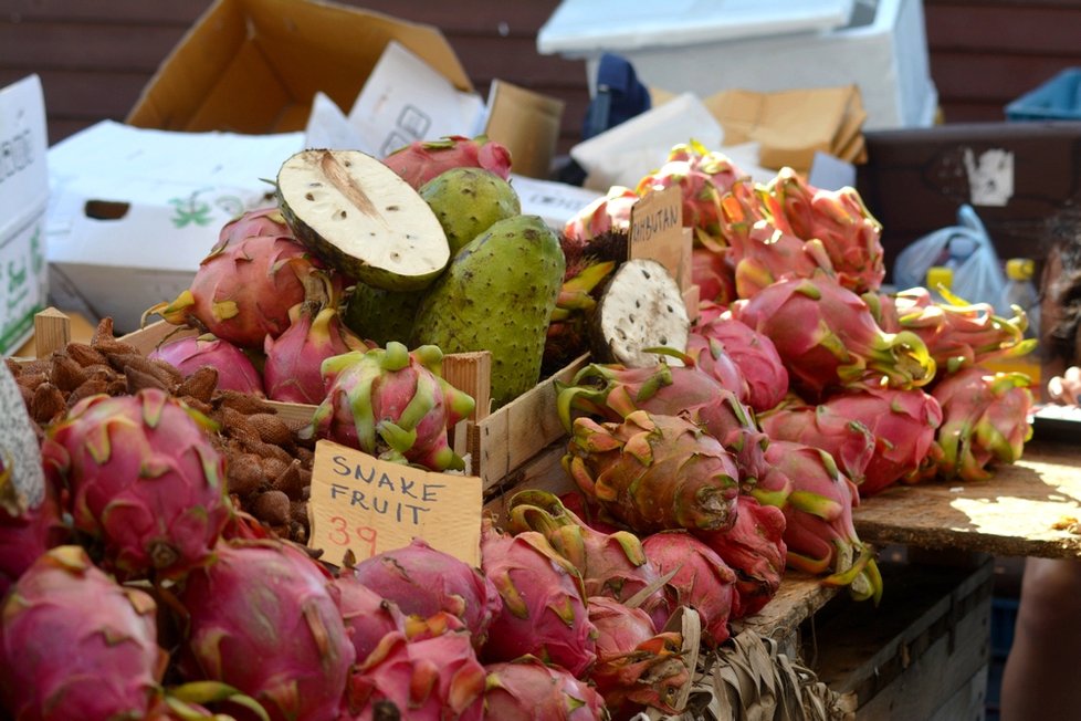
[[[262,348],[264,337],[288,327],[290,309],[304,301],[304,276],[322,267],[286,236],[229,237],[199,263],[188,290],[144,317],[158,314],[242,348]]]

